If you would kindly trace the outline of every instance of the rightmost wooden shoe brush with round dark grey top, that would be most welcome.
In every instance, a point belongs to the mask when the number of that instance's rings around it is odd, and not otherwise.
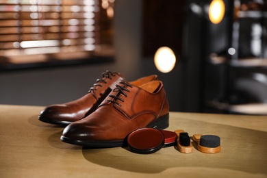
[[[194,134],[193,140],[197,143],[197,149],[203,153],[220,152],[219,136]]]

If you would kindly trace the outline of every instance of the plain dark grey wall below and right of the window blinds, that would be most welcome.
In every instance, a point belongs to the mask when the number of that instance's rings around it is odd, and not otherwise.
[[[181,110],[179,62],[171,73],[163,74],[155,68],[153,58],[142,57],[142,1],[116,0],[115,7],[115,62],[0,73],[0,104],[51,105],[72,101],[85,94],[109,69],[123,73],[129,81],[159,75],[170,110]]]

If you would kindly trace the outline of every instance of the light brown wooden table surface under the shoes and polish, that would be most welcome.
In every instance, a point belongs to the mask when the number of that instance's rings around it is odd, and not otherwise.
[[[0,105],[0,177],[267,177],[267,116],[170,112],[168,130],[220,136],[220,153],[88,149],[60,141],[44,107]]]

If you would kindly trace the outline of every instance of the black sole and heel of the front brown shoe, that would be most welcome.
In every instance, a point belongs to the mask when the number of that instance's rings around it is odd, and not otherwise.
[[[154,129],[166,129],[169,125],[169,114],[166,114],[160,118],[155,119],[152,123],[147,125],[149,128]],[[127,137],[126,137],[127,138]],[[90,148],[111,148],[111,147],[122,147],[126,144],[126,138],[124,140],[112,140],[112,141],[86,141],[86,140],[72,140],[65,136],[61,136],[60,140],[69,144],[77,144],[84,147]]]

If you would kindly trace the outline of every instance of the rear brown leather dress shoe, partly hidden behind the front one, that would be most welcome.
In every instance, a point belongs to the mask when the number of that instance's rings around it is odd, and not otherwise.
[[[44,123],[66,126],[77,120],[85,118],[107,97],[107,94],[116,87],[116,84],[124,79],[120,73],[106,71],[102,73],[103,78],[97,79],[97,84],[90,88],[89,92],[83,97],[64,104],[49,105],[40,113],[39,120]],[[157,79],[157,75],[142,77],[133,84],[141,85],[147,81]]]

